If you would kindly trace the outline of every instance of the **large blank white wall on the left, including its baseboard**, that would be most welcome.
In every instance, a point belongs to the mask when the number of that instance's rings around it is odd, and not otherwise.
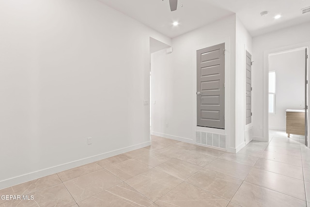
[[[149,38],[171,39],[97,0],[0,1],[0,25],[0,189],[149,144]]]

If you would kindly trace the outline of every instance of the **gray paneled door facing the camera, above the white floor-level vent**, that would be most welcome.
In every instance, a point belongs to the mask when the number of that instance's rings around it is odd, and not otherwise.
[[[197,50],[197,126],[225,128],[225,43]]]

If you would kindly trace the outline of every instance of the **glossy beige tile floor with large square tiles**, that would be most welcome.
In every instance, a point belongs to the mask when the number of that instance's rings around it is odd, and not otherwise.
[[[152,136],[152,145],[0,190],[0,207],[306,207],[310,149],[270,131],[239,153]]]

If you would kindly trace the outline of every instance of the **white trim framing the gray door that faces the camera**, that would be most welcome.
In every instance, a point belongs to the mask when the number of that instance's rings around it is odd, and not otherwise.
[[[225,129],[217,129],[210,127],[197,127],[197,50],[215,46],[218,44],[225,43]],[[192,69],[193,69],[193,89],[192,89],[192,100],[193,100],[193,130],[192,137],[196,137],[196,131],[212,132],[217,134],[226,135],[226,146],[231,144],[231,37],[221,37],[214,40],[209,40],[209,43],[196,46],[192,48]],[[235,142],[235,140],[234,140]],[[235,143],[233,143],[235,144]]]

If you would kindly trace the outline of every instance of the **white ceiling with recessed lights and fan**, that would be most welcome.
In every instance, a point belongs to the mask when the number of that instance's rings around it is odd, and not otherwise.
[[[169,0],[100,1],[171,38],[234,13],[252,36],[310,21],[310,12],[301,14],[310,0],[178,0],[174,12]],[[262,11],[269,14],[262,17]],[[274,19],[277,14],[282,17]],[[174,21],[179,25],[172,26]]]

